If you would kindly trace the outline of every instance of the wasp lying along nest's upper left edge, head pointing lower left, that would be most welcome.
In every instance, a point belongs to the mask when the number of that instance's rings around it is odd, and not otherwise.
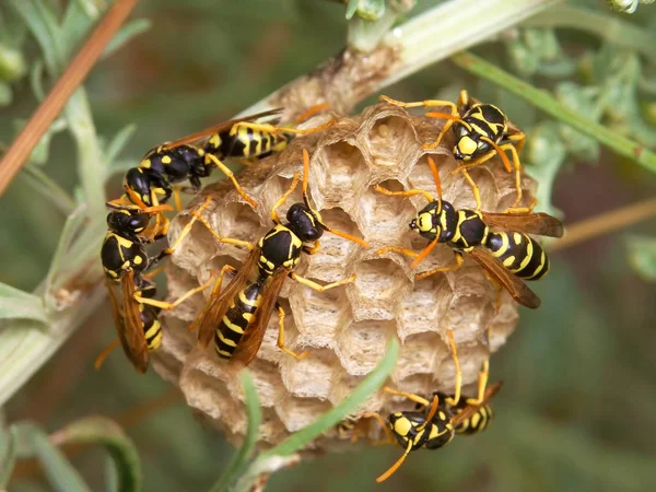
[[[319,107],[323,106],[317,106]],[[124,188],[128,198],[150,207],[165,203],[174,195],[176,207],[180,210],[178,189],[173,185],[189,180],[191,187],[184,189],[196,194],[200,190],[200,178],[210,176],[218,167],[232,180],[242,198],[250,206],[257,207],[257,202],[243,190],[233,172],[222,160],[262,159],[283,150],[293,134],[319,131],[332,124],[329,121],[306,130],[278,127],[276,125],[281,113],[282,108],[278,108],[231,119],[151,149],[139,166],[128,169],[125,175]],[[273,119],[269,122],[258,121],[268,117]]]

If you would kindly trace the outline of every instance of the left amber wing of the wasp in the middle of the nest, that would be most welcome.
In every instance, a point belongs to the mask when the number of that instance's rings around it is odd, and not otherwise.
[[[225,316],[225,313],[230,308],[230,305],[239,290],[246,284],[253,269],[257,266],[260,250],[255,247],[242,267],[239,271],[232,278],[226,288],[221,291],[218,296],[210,297],[206,304],[200,316],[200,326],[198,327],[198,343],[200,347],[206,348],[214,337],[219,323]]]

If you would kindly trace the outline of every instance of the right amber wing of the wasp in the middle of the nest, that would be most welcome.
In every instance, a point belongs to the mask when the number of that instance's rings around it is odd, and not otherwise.
[[[269,319],[271,319],[271,313],[276,307],[280,291],[284,285],[284,281],[290,273],[286,268],[280,268],[273,273],[265,283],[262,290],[262,301],[255,313],[255,317],[245,330],[244,337],[237,344],[235,353],[231,359],[231,363],[236,363],[243,366],[250,364],[255,355],[257,354],[262,339],[267,332],[267,326],[269,326]]]

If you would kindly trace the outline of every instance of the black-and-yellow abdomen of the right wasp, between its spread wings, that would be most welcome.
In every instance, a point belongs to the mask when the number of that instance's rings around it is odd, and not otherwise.
[[[549,258],[542,246],[518,232],[491,232],[485,247],[512,273],[525,280],[538,280],[549,271]]]

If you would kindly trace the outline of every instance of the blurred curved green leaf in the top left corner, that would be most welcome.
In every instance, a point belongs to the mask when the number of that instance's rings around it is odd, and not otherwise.
[[[40,0],[8,0],[10,5],[21,15],[30,32],[36,38],[50,77],[57,77],[63,69],[63,51],[61,30],[49,2]]]

